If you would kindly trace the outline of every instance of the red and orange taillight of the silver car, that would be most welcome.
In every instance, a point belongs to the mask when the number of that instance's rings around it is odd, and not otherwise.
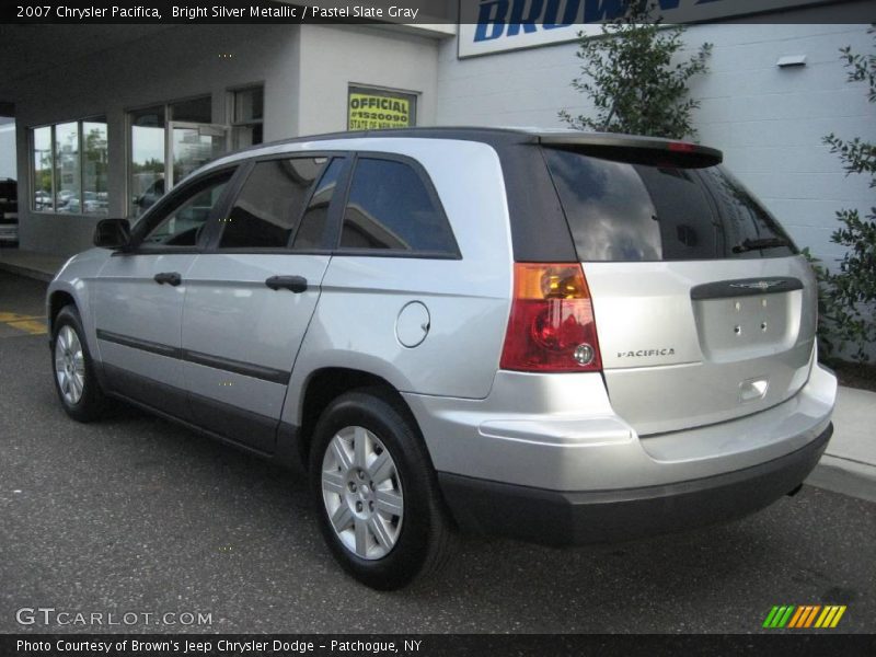
[[[580,264],[515,264],[500,367],[538,372],[602,369],[590,290]]]

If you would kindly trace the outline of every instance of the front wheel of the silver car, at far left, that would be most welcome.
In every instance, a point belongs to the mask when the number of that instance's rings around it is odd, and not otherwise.
[[[51,369],[55,390],[67,415],[78,422],[97,419],[106,397],[94,373],[82,320],[74,306],[65,306],[51,330]]]

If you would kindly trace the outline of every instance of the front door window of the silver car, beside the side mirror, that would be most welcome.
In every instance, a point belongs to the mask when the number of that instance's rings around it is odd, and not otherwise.
[[[157,208],[149,216],[149,226],[153,228],[147,232],[141,246],[195,246],[232,173],[229,171],[187,186],[181,196],[169,199],[170,205]]]

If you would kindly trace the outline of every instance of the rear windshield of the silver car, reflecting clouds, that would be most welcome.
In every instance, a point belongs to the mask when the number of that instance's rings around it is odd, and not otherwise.
[[[721,166],[542,151],[583,262],[797,253],[772,215]]]

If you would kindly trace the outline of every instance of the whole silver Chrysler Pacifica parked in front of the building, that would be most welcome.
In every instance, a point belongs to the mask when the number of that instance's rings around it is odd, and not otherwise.
[[[454,528],[562,545],[744,516],[818,462],[837,383],[809,266],[721,160],[476,128],[221,158],[51,283],[58,395],[303,464],[377,588]]]

